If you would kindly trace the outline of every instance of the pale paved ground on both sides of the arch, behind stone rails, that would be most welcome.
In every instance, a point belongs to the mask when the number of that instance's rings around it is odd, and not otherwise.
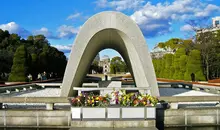
[[[203,91],[195,91],[195,90],[189,90],[185,88],[159,88],[160,95],[161,96],[216,96],[219,94],[212,94],[208,92]],[[45,88],[41,90],[32,90],[32,91],[26,91],[21,93],[13,93],[4,95],[4,97],[59,97],[61,93],[60,88]],[[214,107],[217,102],[184,102],[179,103],[179,107],[185,108],[185,107]],[[23,104],[7,104],[9,108],[28,108],[28,109],[45,109],[45,104],[43,103],[23,103]],[[57,109],[69,109],[69,104],[65,103],[59,103],[55,104],[55,107]]]

